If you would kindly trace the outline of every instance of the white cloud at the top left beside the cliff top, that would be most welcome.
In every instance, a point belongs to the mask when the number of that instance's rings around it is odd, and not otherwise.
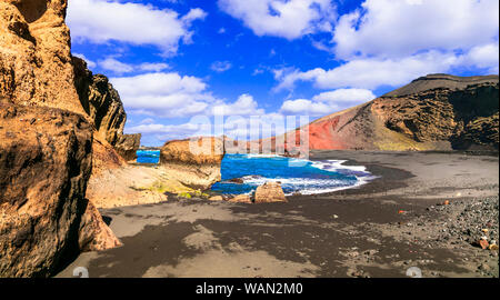
[[[174,54],[179,40],[190,40],[191,22],[206,16],[201,9],[191,9],[180,17],[173,10],[150,4],[78,0],[69,1],[67,20],[76,41],[152,44],[164,54]]]

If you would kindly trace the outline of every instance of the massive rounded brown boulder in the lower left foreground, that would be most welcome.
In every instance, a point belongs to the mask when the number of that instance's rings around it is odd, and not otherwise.
[[[0,277],[48,277],[119,244],[84,199],[91,163],[82,116],[0,99]]]

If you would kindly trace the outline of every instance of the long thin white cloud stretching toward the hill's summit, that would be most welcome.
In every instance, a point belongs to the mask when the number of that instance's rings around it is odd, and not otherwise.
[[[337,68],[309,71],[276,71],[279,84],[274,90],[292,89],[297,81],[312,81],[320,89],[398,87],[429,73],[447,72],[462,59],[454,53],[429,51],[401,59],[357,59]]]

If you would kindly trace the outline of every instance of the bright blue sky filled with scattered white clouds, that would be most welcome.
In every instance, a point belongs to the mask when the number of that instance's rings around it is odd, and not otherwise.
[[[266,138],[429,73],[499,73],[498,0],[69,0],[67,23],[144,146]]]

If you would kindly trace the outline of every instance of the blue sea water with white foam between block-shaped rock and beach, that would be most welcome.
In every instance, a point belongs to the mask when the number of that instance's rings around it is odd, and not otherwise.
[[[222,160],[222,181],[212,186],[221,193],[250,193],[267,181],[279,181],[284,193],[313,194],[366,183],[372,179],[363,166],[342,166],[342,160],[309,161],[284,157],[227,154]],[[241,178],[243,183],[230,182]]]

